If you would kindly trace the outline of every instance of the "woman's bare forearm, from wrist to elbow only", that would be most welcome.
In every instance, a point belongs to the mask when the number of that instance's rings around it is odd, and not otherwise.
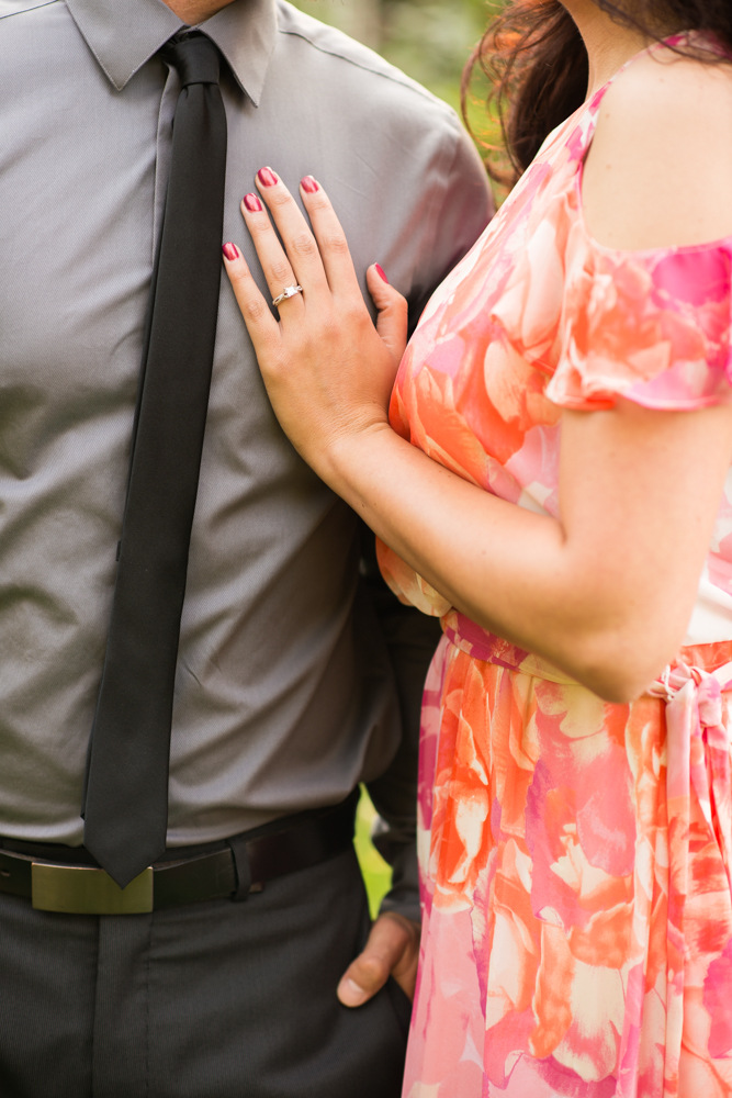
[[[623,607],[601,597],[592,571],[582,582],[556,519],[470,484],[386,425],[345,439],[325,475],[457,609],[599,693],[618,694],[603,664]]]

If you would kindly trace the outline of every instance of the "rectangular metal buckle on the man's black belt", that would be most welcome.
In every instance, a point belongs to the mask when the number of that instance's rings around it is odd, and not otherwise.
[[[31,901],[36,911],[145,915],[153,910],[153,866],[120,888],[105,870],[33,862]]]

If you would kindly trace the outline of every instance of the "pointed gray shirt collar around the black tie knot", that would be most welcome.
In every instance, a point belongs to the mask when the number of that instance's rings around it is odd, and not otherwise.
[[[66,0],[87,45],[122,91],[145,61],[184,25],[162,0]],[[234,0],[201,23],[257,105],[274,48],[274,0]]]

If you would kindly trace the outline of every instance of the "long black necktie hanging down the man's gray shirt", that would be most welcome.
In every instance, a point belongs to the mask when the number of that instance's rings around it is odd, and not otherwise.
[[[193,33],[162,56],[181,92],[82,809],[85,845],[122,888],[166,848],[173,684],[222,272],[219,54]]]

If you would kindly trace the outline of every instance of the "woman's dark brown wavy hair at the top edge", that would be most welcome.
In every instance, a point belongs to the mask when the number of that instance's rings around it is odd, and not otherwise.
[[[595,0],[620,23],[649,41],[677,31],[701,31],[732,55],[732,0],[629,0],[632,12],[611,0]],[[660,30],[665,29],[665,30]],[[678,51],[682,52],[682,51]],[[689,51],[686,51],[689,52]],[[695,51],[706,61],[720,54]],[[463,74],[462,107],[476,68],[488,79],[488,110],[496,113],[503,150],[483,142],[489,175],[499,183],[518,179],[551,131],[582,107],[587,94],[587,52],[560,0],[508,0],[473,51]],[[496,152],[503,156],[496,161]]]

